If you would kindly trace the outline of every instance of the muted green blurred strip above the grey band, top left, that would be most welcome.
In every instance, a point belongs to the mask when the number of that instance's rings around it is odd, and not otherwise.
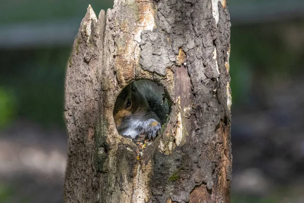
[[[112,0],[11,0],[2,1],[0,24],[39,22],[64,18],[83,18],[91,4],[96,15],[101,9],[112,8]]]

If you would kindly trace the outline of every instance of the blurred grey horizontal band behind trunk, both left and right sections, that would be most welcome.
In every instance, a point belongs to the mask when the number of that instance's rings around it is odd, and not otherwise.
[[[304,19],[304,1],[263,1],[230,5],[233,26]],[[70,46],[81,19],[0,26],[0,49]]]

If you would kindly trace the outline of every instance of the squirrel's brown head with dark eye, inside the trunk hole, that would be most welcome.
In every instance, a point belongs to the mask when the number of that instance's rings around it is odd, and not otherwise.
[[[118,95],[113,109],[116,127],[119,127],[126,118],[132,119],[133,115],[149,109],[146,99],[132,82]]]

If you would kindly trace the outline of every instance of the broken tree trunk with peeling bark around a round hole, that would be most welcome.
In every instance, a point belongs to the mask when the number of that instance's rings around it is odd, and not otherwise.
[[[230,202],[230,17],[225,0],[115,0],[81,22],[65,80],[65,202]],[[153,80],[171,103],[140,160],[115,100]]]

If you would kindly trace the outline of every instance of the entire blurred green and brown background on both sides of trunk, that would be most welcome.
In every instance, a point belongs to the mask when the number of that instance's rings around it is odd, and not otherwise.
[[[304,202],[304,2],[229,0],[232,202]],[[0,201],[61,202],[64,75],[91,4],[0,3]]]

